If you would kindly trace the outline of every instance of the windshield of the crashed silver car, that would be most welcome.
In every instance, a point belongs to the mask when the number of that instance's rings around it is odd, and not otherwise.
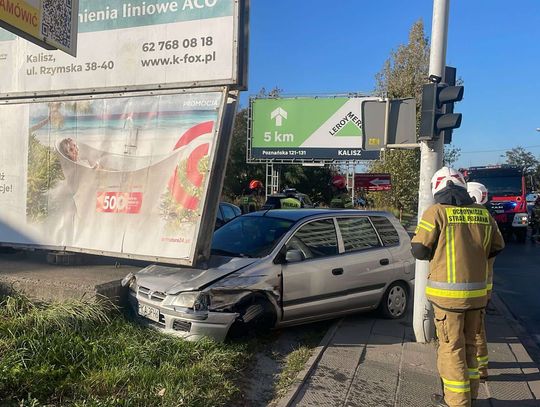
[[[294,222],[269,216],[240,216],[214,233],[212,254],[264,257]]]

